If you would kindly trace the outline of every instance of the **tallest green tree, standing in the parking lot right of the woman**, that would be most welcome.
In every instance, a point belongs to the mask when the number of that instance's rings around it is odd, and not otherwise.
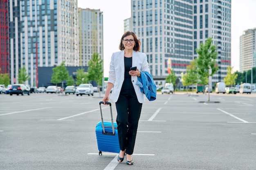
[[[198,74],[200,75],[201,82],[205,82],[206,77],[213,76],[219,69],[216,65],[217,51],[216,46],[212,45],[212,38],[207,38],[205,44],[200,43],[199,49],[196,49],[198,53],[197,66]],[[208,101],[210,101],[210,93],[208,95]]]

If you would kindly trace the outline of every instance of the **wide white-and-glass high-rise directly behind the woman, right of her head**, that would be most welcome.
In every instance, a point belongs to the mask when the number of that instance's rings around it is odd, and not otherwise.
[[[225,77],[231,64],[231,0],[132,0],[130,20],[157,84],[172,68],[181,78],[208,37],[217,47],[220,68],[213,84]]]

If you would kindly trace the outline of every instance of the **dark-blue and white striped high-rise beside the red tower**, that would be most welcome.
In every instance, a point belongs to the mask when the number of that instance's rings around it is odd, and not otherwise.
[[[78,66],[77,0],[9,0],[10,76],[24,67],[37,86],[39,66]]]

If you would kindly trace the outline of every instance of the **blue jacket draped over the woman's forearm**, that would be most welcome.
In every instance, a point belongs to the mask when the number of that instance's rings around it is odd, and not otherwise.
[[[146,95],[149,101],[156,99],[157,86],[149,72],[141,71],[136,84],[140,87],[140,91]]]

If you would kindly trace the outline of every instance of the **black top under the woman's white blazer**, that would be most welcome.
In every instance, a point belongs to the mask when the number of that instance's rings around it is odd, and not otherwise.
[[[124,57],[124,83],[122,89],[133,88],[131,75],[129,75],[130,68],[132,67],[132,57]]]

